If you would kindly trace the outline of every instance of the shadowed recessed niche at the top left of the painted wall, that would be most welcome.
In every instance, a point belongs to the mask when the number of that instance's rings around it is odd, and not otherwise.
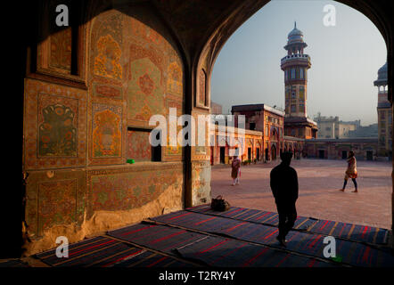
[[[28,76],[86,88],[86,23],[74,17],[78,14],[78,8],[71,2],[72,0],[42,2],[42,8],[37,11],[37,19],[40,20],[37,50],[32,49],[34,53],[31,54],[37,61],[29,61],[31,73]],[[70,8],[73,16],[70,16],[68,26],[56,24],[59,13],[55,11],[59,4],[74,6]]]

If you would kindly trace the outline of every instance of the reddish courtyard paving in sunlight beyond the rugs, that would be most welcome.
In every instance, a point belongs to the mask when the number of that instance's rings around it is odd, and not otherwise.
[[[280,160],[242,166],[240,184],[232,186],[231,168],[212,167],[212,197],[223,195],[232,206],[276,211],[269,173]],[[349,180],[339,191],[347,167],[345,160],[293,159],[299,176],[299,216],[311,216],[351,224],[391,228],[391,162],[357,161],[358,192]]]

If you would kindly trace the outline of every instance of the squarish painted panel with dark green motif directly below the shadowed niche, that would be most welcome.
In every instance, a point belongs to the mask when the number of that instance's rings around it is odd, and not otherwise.
[[[26,169],[86,164],[86,92],[26,79]]]

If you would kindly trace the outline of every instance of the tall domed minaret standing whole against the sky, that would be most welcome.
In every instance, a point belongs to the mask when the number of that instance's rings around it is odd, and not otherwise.
[[[287,55],[281,60],[281,69],[284,71],[285,134],[308,139],[316,138],[317,127],[307,112],[307,81],[311,63],[309,55],[304,53],[308,45],[303,37],[294,21],[294,28],[284,46]]]

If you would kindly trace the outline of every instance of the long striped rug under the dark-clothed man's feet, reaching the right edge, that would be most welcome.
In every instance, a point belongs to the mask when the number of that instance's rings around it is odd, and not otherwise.
[[[199,213],[178,211],[164,216],[157,216],[152,220],[179,225],[185,228],[198,230],[202,232],[212,232],[219,235],[255,242],[262,245],[280,248],[275,237],[278,234],[277,227],[265,224],[256,224],[245,221],[238,221],[222,216],[209,216]],[[287,235],[287,248],[291,251],[324,258],[324,234],[316,234],[312,232],[291,231]],[[354,266],[385,266],[393,265],[394,256],[387,251],[372,248],[365,244],[350,240],[337,240],[337,254],[342,256],[342,261]],[[367,252],[364,258],[358,258],[363,252]],[[369,257],[368,257],[369,256]],[[371,258],[371,262],[367,262]]]

